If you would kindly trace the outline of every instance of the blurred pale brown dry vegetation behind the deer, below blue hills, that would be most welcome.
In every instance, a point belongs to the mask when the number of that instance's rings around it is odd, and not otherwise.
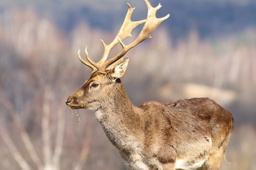
[[[231,91],[221,102],[236,126],[226,154],[231,164],[222,167],[255,169],[255,30],[204,41],[193,31],[176,45],[166,28],[153,36],[127,54],[122,80],[131,101],[167,102],[188,96],[183,89],[196,91],[195,86],[205,89],[198,96],[217,89],[216,100]],[[79,125],[64,102],[91,72],[75,57],[78,48],[88,45],[90,56],[100,58],[100,38],[113,37],[86,23],[62,35],[31,11],[1,16],[0,169],[125,169],[93,112],[78,111]]]

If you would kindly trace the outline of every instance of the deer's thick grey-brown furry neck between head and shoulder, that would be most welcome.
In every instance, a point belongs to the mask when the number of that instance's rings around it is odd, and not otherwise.
[[[112,88],[114,90],[107,93],[107,98],[95,114],[112,144],[124,149],[127,147],[125,141],[134,138],[141,129],[140,110],[129,101],[121,83],[113,84]]]

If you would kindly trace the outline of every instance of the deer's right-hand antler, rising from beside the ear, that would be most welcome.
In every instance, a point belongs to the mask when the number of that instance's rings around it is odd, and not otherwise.
[[[132,47],[135,47],[136,45],[138,45],[143,40],[146,40],[147,38],[151,38],[151,33],[159,26],[159,24],[164,20],[166,20],[167,18],[169,18],[170,14],[167,14],[162,18],[156,18],[156,11],[159,10],[159,8],[161,8],[161,4],[159,4],[156,7],[152,7],[149,1],[147,0],[144,0],[144,1],[148,8],[148,13],[146,17],[146,23],[142,28],[142,31],[139,33],[138,37],[129,45],[124,45],[124,43],[122,42],[122,39],[117,37],[117,40],[123,47],[122,52],[120,52],[118,55],[116,55],[112,59],[107,60],[107,62],[104,63],[104,66],[102,66],[102,68],[106,69],[110,64],[113,64],[114,62],[119,60],[121,57],[123,57],[128,52],[128,50],[130,50]]]

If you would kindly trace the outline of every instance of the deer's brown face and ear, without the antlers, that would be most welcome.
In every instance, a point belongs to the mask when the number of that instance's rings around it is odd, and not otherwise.
[[[99,109],[101,104],[110,98],[109,94],[114,90],[114,84],[120,83],[119,77],[124,74],[127,64],[128,59],[124,59],[105,73],[92,73],[90,79],[67,99],[67,105],[74,109]]]

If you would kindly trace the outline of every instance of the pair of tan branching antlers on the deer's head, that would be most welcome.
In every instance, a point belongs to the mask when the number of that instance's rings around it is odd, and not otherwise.
[[[159,26],[159,24],[162,21],[169,18],[170,14],[167,14],[166,16],[164,16],[162,18],[156,18],[156,11],[159,10],[159,8],[161,8],[161,4],[159,4],[156,7],[152,7],[151,4],[149,3],[149,1],[147,1],[147,0],[144,0],[144,1],[148,8],[148,13],[147,13],[146,19],[144,19],[142,21],[132,21],[131,17],[132,17],[132,12],[134,11],[134,8],[132,8],[132,6],[130,6],[127,3],[127,5],[128,5],[127,15],[124,18],[124,23],[122,24],[122,27],[120,28],[117,36],[114,38],[114,40],[109,45],[106,45],[105,42],[103,40],[101,40],[102,44],[105,47],[105,50],[104,50],[104,55],[103,55],[102,59],[100,60],[100,62],[96,63],[96,62],[93,62],[92,60],[90,60],[90,57],[87,52],[87,47],[85,48],[85,57],[88,62],[86,62],[85,60],[82,59],[82,57],[80,56],[80,50],[78,51],[79,60],[83,64],[90,67],[93,70],[93,72],[105,73],[107,70],[107,67],[109,67],[110,65],[111,65],[111,67],[114,67],[115,65],[117,65],[119,63],[117,61],[122,60],[122,57],[132,47],[138,45],[140,42],[142,42],[143,40],[146,40],[147,38],[151,38],[151,33],[157,28],[157,26]],[[124,38],[131,37],[132,30],[142,23],[145,23],[145,24],[144,24],[144,27],[142,28],[142,31],[139,33],[138,37],[129,45],[124,45],[122,40]],[[119,52],[118,55],[111,58],[110,60],[107,60],[110,50],[112,50],[112,48],[114,48],[118,43],[120,43],[122,45],[122,51]]]

